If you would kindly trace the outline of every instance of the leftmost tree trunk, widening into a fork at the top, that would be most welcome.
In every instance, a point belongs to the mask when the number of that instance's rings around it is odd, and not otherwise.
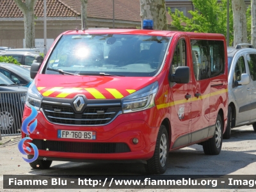
[[[35,14],[37,0],[14,0],[24,15],[25,48],[35,48]]]

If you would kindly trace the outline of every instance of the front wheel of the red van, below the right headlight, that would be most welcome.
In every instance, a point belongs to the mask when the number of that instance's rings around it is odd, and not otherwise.
[[[149,174],[162,174],[166,171],[169,151],[168,133],[164,125],[160,126],[154,156],[145,164],[146,172]]]

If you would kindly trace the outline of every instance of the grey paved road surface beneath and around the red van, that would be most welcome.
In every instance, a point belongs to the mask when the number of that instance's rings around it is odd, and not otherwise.
[[[219,156],[205,156],[201,145],[176,150],[169,154],[166,175],[255,175],[256,173],[256,132],[251,125],[232,129],[230,140],[224,140]],[[6,140],[6,138],[4,138]],[[1,143],[1,141],[0,141]],[[22,160],[17,145],[0,147],[0,191],[3,190],[3,175],[6,174],[76,174],[76,175],[107,175],[107,174],[145,174],[143,164],[98,164],[70,163],[55,161],[49,170],[33,170]],[[175,191],[180,191],[176,189]],[[12,190],[18,191],[18,190]],[[19,190],[20,191],[20,190]],[[23,191],[47,191],[27,189]],[[52,190],[48,190],[52,191]],[[58,190],[59,191],[59,190]],[[81,190],[68,190],[81,191]],[[95,189],[95,191],[104,191]],[[123,191],[112,190],[111,191]],[[125,191],[125,190],[124,190]],[[131,191],[131,190],[127,190]],[[133,191],[147,191],[134,189]],[[152,191],[152,190],[148,190]],[[156,190],[154,190],[156,191]],[[159,189],[159,191],[168,191]],[[194,191],[200,191],[198,189]],[[202,190],[204,191],[204,190]],[[227,191],[227,190],[220,190]],[[234,190],[234,191],[237,191]],[[238,189],[239,191],[239,189]],[[248,189],[241,189],[248,191]]]

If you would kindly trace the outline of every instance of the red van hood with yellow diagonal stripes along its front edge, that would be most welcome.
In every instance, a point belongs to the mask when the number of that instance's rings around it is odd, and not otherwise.
[[[44,97],[73,99],[82,94],[87,99],[122,99],[155,81],[156,77],[38,74],[35,85]]]

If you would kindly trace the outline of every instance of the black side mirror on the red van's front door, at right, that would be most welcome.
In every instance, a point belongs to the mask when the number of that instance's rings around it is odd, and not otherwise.
[[[177,67],[175,74],[169,75],[169,81],[175,83],[189,83],[190,69],[189,67]]]

